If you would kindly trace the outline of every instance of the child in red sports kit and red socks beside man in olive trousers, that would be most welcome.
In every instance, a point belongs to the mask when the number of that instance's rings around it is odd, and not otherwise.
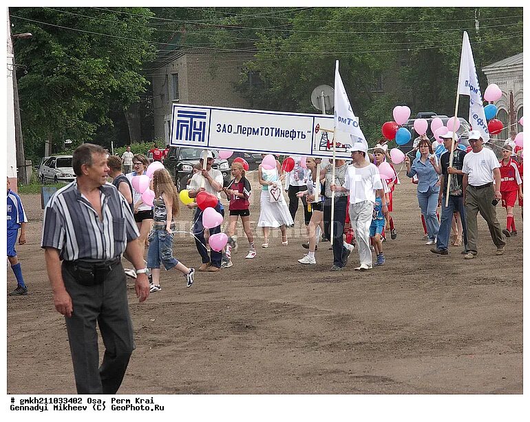
[[[502,207],[506,209],[506,229],[502,230],[507,238],[517,235],[516,223],[513,220],[513,207],[516,198],[522,198],[522,180],[519,175],[517,162],[511,159],[511,145],[502,147],[502,160],[500,160],[500,194]]]

